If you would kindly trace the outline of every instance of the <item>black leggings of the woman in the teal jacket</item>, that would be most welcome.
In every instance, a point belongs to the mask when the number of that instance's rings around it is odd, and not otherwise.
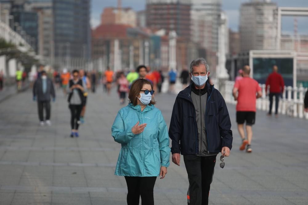
[[[156,176],[125,176],[125,180],[128,189],[127,205],[139,205],[140,196],[142,205],[154,205],[153,189]]]

